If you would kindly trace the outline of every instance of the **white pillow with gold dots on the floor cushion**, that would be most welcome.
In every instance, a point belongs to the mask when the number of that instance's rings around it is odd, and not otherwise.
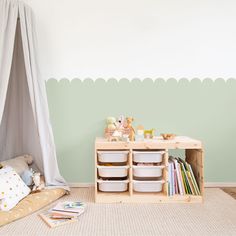
[[[30,193],[30,188],[15,170],[6,166],[0,169],[0,210],[9,211]]]

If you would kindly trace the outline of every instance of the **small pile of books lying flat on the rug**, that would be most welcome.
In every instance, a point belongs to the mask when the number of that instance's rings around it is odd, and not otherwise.
[[[44,222],[51,228],[78,221],[78,217],[84,213],[83,202],[59,202],[52,209],[39,214]]]

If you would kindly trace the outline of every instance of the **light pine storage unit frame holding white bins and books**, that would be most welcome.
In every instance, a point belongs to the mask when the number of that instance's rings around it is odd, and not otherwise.
[[[168,159],[169,152],[173,149],[182,149],[185,151],[185,160],[191,165],[196,181],[198,183],[201,195],[173,195],[168,196]],[[127,191],[124,192],[104,192],[99,190],[99,160],[98,154],[106,151],[126,151],[128,158],[126,168],[128,175]],[[134,153],[137,151],[162,151],[163,159],[161,165],[162,180],[164,182],[160,192],[137,192],[134,191]],[[109,142],[105,138],[96,138],[95,141],[95,202],[101,203],[122,203],[122,202],[143,202],[143,203],[169,203],[169,202],[203,202],[204,178],[203,178],[203,146],[201,141],[189,137],[175,137],[173,140],[163,140],[158,137],[153,140],[134,141],[134,142]],[[109,168],[112,166],[107,166]],[[103,180],[102,180],[103,181]],[[108,182],[108,180],[105,180]],[[105,183],[107,183],[105,182]],[[108,182],[109,183],[109,182]]]

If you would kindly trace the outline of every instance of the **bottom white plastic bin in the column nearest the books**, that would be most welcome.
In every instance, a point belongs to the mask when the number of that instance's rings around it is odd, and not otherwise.
[[[139,181],[133,180],[133,189],[136,192],[161,192],[164,180],[159,181]]]

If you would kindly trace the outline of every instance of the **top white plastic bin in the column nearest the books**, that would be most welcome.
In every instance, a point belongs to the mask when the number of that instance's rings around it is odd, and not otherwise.
[[[165,151],[134,151],[133,161],[139,163],[160,163]]]

